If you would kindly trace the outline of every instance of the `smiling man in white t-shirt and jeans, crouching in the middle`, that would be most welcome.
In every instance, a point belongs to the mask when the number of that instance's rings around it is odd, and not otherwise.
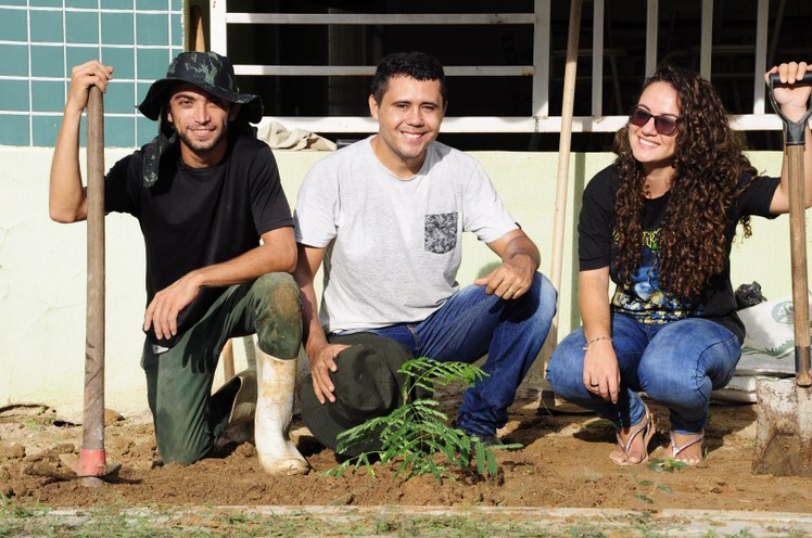
[[[466,390],[456,425],[493,445],[547,335],[556,291],[480,164],[435,141],[446,106],[434,57],[410,52],[381,61],[369,95],[378,133],[317,163],[299,193],[294,276],[321,405],[335,405],[331,374],[347,347],[330,344],[331,335],[375,332],[440,361],[487,354],[489,376]],[[464,231],[502,264],[460,289]],[[313,280],[322,261],[319,310]]]

